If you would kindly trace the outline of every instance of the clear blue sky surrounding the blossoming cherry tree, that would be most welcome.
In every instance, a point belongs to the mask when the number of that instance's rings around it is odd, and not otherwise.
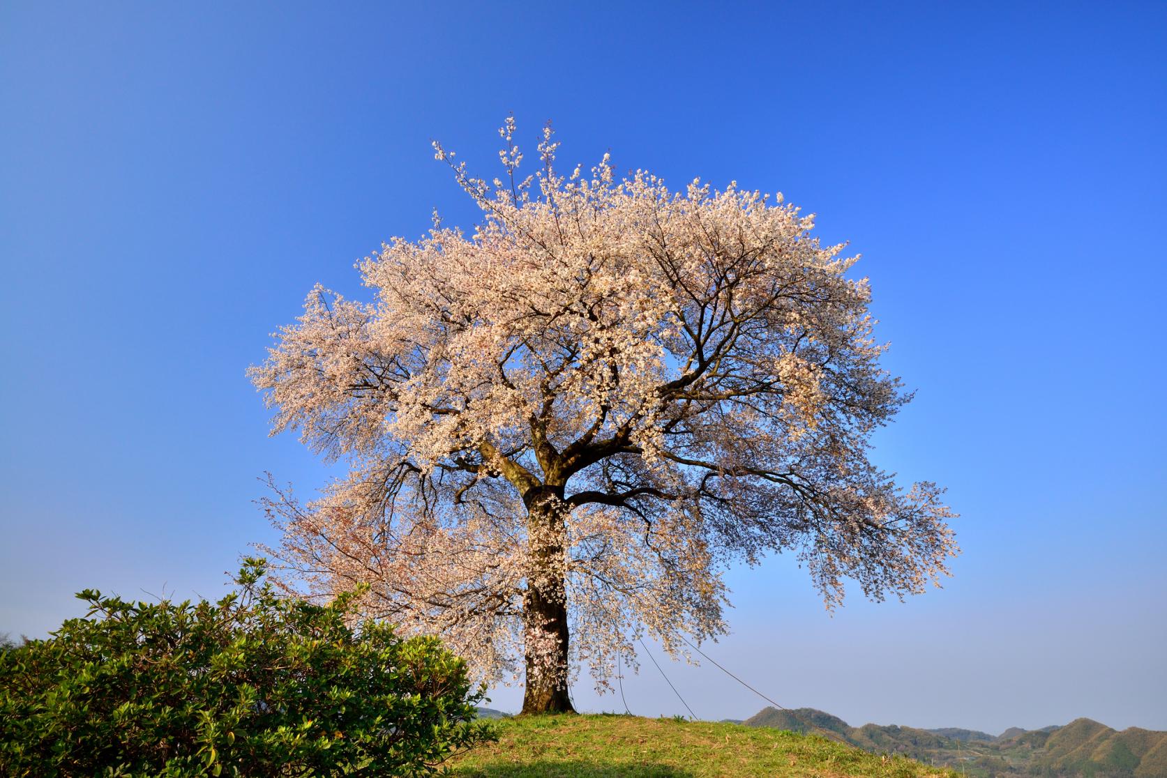
[[[244,369],[314,282],[469,224],[429,139],[492,174],[513,111],[819,213],[917,390],[874,456],[950,488],[955,577],[831,618],[790,558],[734,570],[714,658],[852,724],[1167,729],[1167,5],[633,5],[4,3],[0,631],[223,591],[257,476],[327,475]],[[647,661],[626,693],[682,710]]]

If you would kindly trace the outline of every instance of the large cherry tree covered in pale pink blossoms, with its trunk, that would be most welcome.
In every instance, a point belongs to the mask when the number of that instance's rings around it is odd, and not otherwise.
[[[441,635],[534,713],[572,709],[581,664],[607,688],[643,635],[676,656],[725,632],[729,563],[792,552],[827,608],[945,575],[942,490],[867,457],[909,397],[857,258],[781,196],[617,181],[607,155],[560,175],[550,127],[522,177],[513,129],[492,182],[435,143],[471,234],[435,217],[384,245],[371,302],[316,287],[250,371],[273,432],[349,467],[268,500],[289,584],[368,583],[366,617]]]

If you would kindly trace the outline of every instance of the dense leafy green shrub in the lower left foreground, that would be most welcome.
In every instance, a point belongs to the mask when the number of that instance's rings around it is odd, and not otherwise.
[[[0,651],[0,775],[415,775],[491,737],[439,640],[263,575],[246,560],[217,603],[83,591],[85,618]]]

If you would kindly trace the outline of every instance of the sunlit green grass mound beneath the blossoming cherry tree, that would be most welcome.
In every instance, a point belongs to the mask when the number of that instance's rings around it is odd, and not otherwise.
[[[496,722],[498,742],[447,765],[463,778],[697,778],[699,776],[872,776],[958,773],[881,757],[815,735],[638,716],[519,716]]]

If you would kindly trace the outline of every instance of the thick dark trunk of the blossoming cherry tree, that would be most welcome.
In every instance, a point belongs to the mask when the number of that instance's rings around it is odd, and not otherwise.
[[[558,493],[557,493],[558,492]],[[567,589],[560,490],[538,490],[527,505],[527,542],[534,569],[523,598],[526,688],[523,713],[575,713],[567,694]]]

